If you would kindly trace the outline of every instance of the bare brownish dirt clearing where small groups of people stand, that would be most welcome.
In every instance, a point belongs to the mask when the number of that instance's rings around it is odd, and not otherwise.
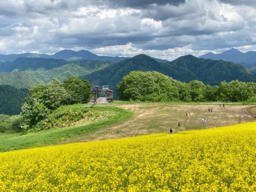
[[[61,143],[86,142],[93,140],[108,140],[123,137],[133,137],[143,134],[173,133],[186,130],[214,128],[234,125],[243,122],[256,121],[256,106],[225,105],[169,105],[169,104],[131,104],[116,105],[130,110],[134,116],[120,125],[102,128],[90,135],[79,135]],[[208,109],[212,108],[212,113]],[[191,111],[191,116],[186,116]],[[246,114],[246,116],[243,115]],[[248,117],[247,117],[248,116]],[[206,123],[201,118],[207,119]],[[178,127],[180,122],[180,127]],[[242,131],[242,130],[241,130]],[[72,140],[72,141],[71,141]]]

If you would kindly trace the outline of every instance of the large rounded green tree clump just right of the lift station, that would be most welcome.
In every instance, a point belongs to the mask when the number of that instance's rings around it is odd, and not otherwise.
[[[171,101],[178,97],[172,78],[153,72],[131,71],[116,86],[121,100]]]

